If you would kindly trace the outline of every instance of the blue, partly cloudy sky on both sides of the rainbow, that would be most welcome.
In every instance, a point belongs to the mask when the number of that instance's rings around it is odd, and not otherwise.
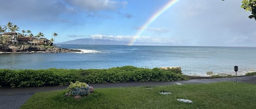
[[[132,40],[170,0],[1,0],[0,25],[42,32],[56,42],[93,38]],[[143,28],[134,44],[256,47],[256,21],[242,0],[179,0]]]

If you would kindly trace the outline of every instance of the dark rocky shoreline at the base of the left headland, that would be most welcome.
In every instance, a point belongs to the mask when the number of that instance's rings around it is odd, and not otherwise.
[[[0,44],[0,53],[77,53],[78,49]]]

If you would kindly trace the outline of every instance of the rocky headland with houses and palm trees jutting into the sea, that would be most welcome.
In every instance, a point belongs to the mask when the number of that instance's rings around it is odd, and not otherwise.
[[[54,39],[46,39],[44,34],[39,32],[33,35],[31,30],[22,30],[17,33],[19,27],[11,22],[7,25],[0,25],[0,52],[1,53],[73,53],[81,50],[58,48],[53,46],[53,41],[58,35],[53,33]]]

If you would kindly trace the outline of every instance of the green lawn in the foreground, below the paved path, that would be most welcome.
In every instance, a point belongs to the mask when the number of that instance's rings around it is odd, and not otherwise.
[[[34,94],[23,108],[255,108],[256,85],[212,84],[96,88],[88,97],[64,96],[68,90]],[[170,92],[171,94],[159,94]],[[192,103],[177,101],[189,99]]]

